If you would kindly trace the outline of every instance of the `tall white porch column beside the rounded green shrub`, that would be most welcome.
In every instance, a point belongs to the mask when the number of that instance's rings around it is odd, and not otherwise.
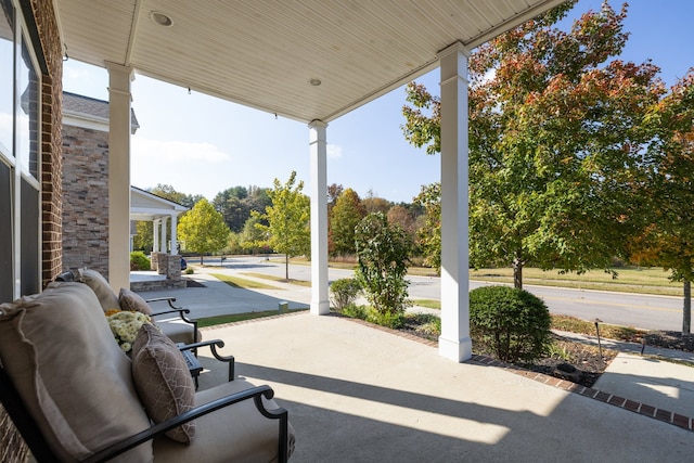
[[[467,245],[467,55],[461,43],[441,65],[441,336],[439,355],[472,357]]]

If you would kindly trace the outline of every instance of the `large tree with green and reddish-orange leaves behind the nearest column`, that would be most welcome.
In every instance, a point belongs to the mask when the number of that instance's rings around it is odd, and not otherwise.
[[[516,287],[526,265],[607,269],[637,227],[633,176],[653,136],[644,117],[663,94],[658,69],[614,59],[626,5],[560,30],[574,3],[470,57],[471,263],[512,265]],[[406,138],[439,152],[438,98],[412,83],[408,101]]]

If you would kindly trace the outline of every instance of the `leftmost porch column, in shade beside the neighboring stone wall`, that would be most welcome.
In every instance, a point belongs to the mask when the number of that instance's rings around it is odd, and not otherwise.
[[[108,282],[130,287],[130,81],[132,68],[108,69]]]

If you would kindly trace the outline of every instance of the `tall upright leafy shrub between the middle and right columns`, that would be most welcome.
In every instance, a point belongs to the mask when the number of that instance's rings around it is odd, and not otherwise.
[[[364,217],[356,230],[359,267],[355,278],[369,303],[386,319],[399,317],[408,307],[408,272],[411,243],[398,224],[382,213]]]

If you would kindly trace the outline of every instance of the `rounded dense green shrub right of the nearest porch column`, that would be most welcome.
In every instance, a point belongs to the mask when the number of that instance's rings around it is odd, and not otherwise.
[[[470,292],[471,334],[505,362],[531,363],[547,353],[550,312],[527,291],[483,286]]]

